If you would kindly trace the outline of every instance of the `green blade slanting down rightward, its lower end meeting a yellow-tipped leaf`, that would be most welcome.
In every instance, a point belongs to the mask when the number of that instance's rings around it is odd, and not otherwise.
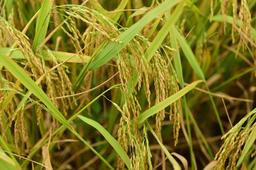
[[[193,51],[191,50],[188,42],[184,40],[184,37],[178,32],[176,28],[175,30],[175,35],[179,43],[181,44],[182,51],[185,54],[185,57],[187,58],[188,62],[190,63],[191,67],[193,68],[194,72],[199,76],[201,80],[205,80],[204,74],[202,72],[202,69],[200,68]]]

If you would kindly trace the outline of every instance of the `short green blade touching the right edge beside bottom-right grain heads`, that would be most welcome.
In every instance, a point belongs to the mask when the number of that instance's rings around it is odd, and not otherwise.
[[[251,146],[254,144],[254,141],[256,140],[256,127],[254,127],[254,129],[252,130],[252,132],[250,133],[248,140],[245,144],[245,147],[243,149],[243,152],[238,160],[238,163],[236,165],[236,168],[238,168],[242,162],[244,161],[245,157],[247,156],[247,152],[249,151],[249,149],[251,148]]]

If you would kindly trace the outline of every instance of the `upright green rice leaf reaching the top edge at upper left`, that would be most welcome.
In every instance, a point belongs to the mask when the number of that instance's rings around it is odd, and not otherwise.
[[[50,15],[48,15],[48,13],[51,8],[52,3],[50,4],[50,0],[44,0],[37,17],[36,34],[32,45],[32,51],[34,52],[36,51],[37,45],[43,42],[46,37],[46,31],[50,20]]]

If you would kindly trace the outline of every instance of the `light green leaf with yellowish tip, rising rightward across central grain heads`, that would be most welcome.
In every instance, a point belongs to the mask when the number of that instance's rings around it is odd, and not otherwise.
[[[165,109],[171,103],[175,102],[176,100],[181,98],[183,95],[185,95],[186,93],[191,91],[196,85],[198,85],[201,82],[202,82],[201,80],[194,81],[193,83],[191,83],[190,85],[187,85],[186,87],[184,87],[183,89],[181,89],[180,91],[175,93],[174,95],[165,99],[163,102],[160,102],[160,103],[154,105],[153,107],[151,107],[150,109],[144,111],[139,116],[138,124],[143,123],[150,116],[154,115],[155,113],[159,112],[160,110]]]

